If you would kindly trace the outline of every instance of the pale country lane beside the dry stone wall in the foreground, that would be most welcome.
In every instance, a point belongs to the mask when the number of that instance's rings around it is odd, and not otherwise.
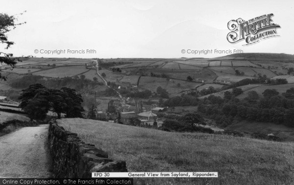
[[[0,178],[51,177],[47,139],[41,139],[48,126],[24,127],[0,137]]]

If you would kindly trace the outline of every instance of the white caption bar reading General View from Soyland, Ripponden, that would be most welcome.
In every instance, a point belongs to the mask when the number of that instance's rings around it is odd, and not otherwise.
[[[218,172],[92,172],[93,178],[143,178],[143,177],[218,177]]]

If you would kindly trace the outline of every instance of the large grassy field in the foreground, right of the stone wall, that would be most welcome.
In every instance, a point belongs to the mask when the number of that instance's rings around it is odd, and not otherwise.
[[[66,130],[126,161],[129,172],[218,172],[218,178],[135,178],[148,185],[269,185],[294,183],[294,143],[257,139],[181,139],[170,133],[80,118],[58,120]],[[193,133],[191,135],[204,135]],[[207,134],[205,134],[207,136]]]

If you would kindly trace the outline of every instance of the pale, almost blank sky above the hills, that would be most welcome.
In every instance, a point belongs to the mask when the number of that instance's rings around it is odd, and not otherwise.
[[[1,0],[0,13],[26,11],[18,15],[18,22],[26,24],[8,34],[15,42],[8,49],[14,56],[212,58],[227,54],[187,52],[241,49],[294,54],[293,8],[293,0]],[[250,46],[242,46],[245,41],[227,41],[229,21],[270,13],[273,23],[281,26],[277,29],[280,37]],[[4,46],[0,49],[5,51]],[[64,49],[61,54],[45,53]],[[86,53],[87,49],[96,53]]]

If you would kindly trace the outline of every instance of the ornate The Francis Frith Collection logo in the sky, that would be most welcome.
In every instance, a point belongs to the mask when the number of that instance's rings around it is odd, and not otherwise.
[[[278,24],[272,23],[273,14],[265,14],[259,17],[245,21],[241,18],[228,22],[228,28],[231,32],[227,35],[230,43],[237,43],[245,40],[245,45],[257,43],[263,39],[276,37]],[[243,46],[245,46],[243,45]]]

